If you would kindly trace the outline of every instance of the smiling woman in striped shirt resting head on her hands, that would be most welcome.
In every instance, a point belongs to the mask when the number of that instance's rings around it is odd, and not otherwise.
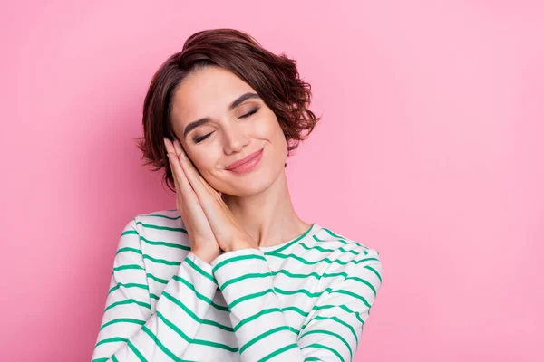
[[[235,30],[195,33],[160,66],[139,147],[177,208],[122,231],[93,361],[355,356],[382,265],[296,215],[285,167],[319,120],[310,98],[295,61]]]

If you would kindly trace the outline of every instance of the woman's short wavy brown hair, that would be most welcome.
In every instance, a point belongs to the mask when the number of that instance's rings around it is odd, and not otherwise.
[[[153,171],[165,168],[163,182],[175,192],[172,171],[162,138],[175,139],[170,111],[177,86],[190,72],[219,66],[246,81],[277,117],[287,140],[287,156],[316,126],[316,115],[308,110],[311,86],[300,79],[296,61],[264,49],[248,33],[234,29],[210,29],[194,33],[181,52],[160,65],[151,80],[143,103],[143,137],[138,138],[144,166]],[[287,166],[287,165],[286,165]]]

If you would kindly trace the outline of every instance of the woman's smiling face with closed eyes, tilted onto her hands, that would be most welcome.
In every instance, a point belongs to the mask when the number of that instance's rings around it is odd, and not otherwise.
[[[287,141],[276,115],[230,71],[207,66],[189,74],[174,93],[171,119],[195,167],[224,194],[255,195],[285,171]],[[248,172],[228,169],[261,149]]]

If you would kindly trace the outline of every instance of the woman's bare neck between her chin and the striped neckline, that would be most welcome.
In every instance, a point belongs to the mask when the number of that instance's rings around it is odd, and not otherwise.
[[[291,203],[285,170],[263,192],[250,196],[221,194],[228,208],[259,246],[285,243],[311,226],[302,221]]]

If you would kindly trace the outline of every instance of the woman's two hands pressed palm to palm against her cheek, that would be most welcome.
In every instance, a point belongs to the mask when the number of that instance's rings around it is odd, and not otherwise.
[[[184,222],[188,218],[186,225],[190,223],[190,228],[194,229],[189,230],[188,225],[189,236],[191,231],[196,233],[195,247],[216,251],[212,248],[213,243],[209,242],[210,237],[213,236],[213,240],[218,245],[215,257],[219,255],[219,248],[225,252],[258,248],[257,243],[238,223],[219,193],[209,186],[192,165],[182,150],[180,142],[175,140],[172,145],[169,139],[164,138],[164,144],[169,155],[174,180],[177,180],[176,189],[179,186],[181,190],[181,197],[178,196],[178,210],[181,209],[180,214],[183,213],[181,217]]]

